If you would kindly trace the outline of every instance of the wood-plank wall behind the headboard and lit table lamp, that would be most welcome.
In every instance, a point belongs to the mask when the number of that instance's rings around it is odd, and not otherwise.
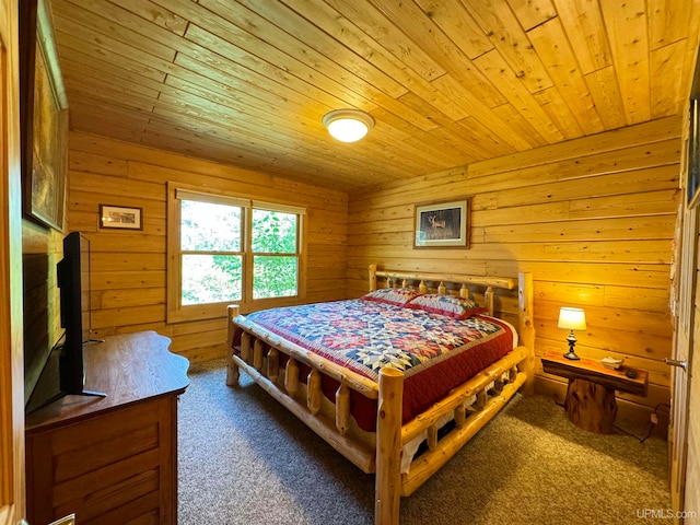
[[[564,352],[560,306],[585,310],[578,353],[625,358],[650,371],[648,411],[669,400],[672,245],[679,197],[680,119],[380,185],[350,196],[348,290],[366,290],[366,267],[535,279],[536,353]],[[413,203],[470,197],[469,249],[415,249]],[[538,360],[539,363],[539,360]],[[538,364],[539,392],[565,383]],[[662,415],[663,417],[663,415]]]

